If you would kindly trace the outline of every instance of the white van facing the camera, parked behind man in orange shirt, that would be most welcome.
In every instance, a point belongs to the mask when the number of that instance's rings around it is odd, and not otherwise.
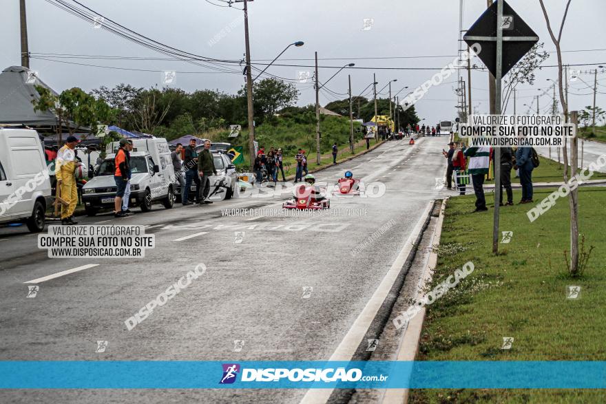
[[[82,200],[89,216],[96,215],[101,209],[114,209],[114,158],[119,147],[118,142],[107,146],[107,157],[82,189]],[[129,206],[140,206],[144,212],[151,210],[154,202],[161,202],[166,209],[173,207],[176,176],[170,153],[164,138],[133,140]]]

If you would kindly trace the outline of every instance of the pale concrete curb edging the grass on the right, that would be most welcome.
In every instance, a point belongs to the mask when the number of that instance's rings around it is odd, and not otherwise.
[[[431,245],[437,246],[440,244],[440,237],[442,234],[442,224],[444,221],[444,213],[446,211],[446,202],[448,197],[442,201],[440,206],[440,214],[436,223],[435,233],[433,234]],[[419,292],[417,293],[417,301],[423,298],[424,286],[431,283],[433,270],[437,264],[438,255],[432,248],[427,261],[423,274],[421,275],[422,284],[419,285]],[[425,307],[421,308],[419,313],[410,320],[406,326],[404,337],[400,345],[399,351],[397,352],[396,361],[414,361],[419,351],[419,341],[421,341],[421,330],[423,329],[423,321],[425,319]],[[401,404],[408,403],[408,394],[410,389],[388,389],[383,396],[382,403],[384,404]]]

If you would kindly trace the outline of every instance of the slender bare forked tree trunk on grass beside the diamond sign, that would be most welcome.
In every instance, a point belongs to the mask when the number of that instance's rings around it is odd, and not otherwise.
[[[558,89],[560,93],[560,103],[564,109],[564,118],[565,121],[568,122],[568,103],[564,97],[564,88],[562,85],[562,50],[560,47],[560,41],[562,39],[562,32],[564,30],[564,23],[566,21],[566,16],[568,14],[568,8],[570,8],[570,2],[572,0],[568,0],[566,3],[566,8],[564,10],[564,15],[562,17],[562,23],[560,25],[560,31],[558,32],[558,36],[554,34],[552,30],[552,25],[550,23],[549,15],[547,14],[547,10],[545,10],[545,4],[543,0],[539,0],[541,3],[541,10],[543,10],[543,17],[545,17],[545,23],[547,23],[547,31],[551,36],[552,42],[556,46],[556,54],[558,55]],[[568,153],[567,153],[567,141],[564,140],[563,147],[563,157],[564,157],[564,183],[568,183]],[[574,177],[576,175],[576,169],[578,168],[578,145],[577,139],[572,138],[570,140],[570,169],[571,176]],[[573,276],[578,275],[578,189],[574,189],[570,191],[568,194],[568,206],[570,208],[570,273]]]

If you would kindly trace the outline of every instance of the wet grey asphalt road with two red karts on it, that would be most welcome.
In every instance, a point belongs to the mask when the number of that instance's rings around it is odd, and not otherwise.
[[[446,143],[444,136],[414,146],[388,142],[317,173],[317,180],[335,182],[349,169],[366,184],[385,184],[380,198],[331,200],[335,215],[222,215],[222,209],[280,209],[284,195],[168,210],[154,205],[124,219],[78,218],[80,224],[147,226],[156,248],[145,258],[50,259],[25,226],[0,228],[0,360],[328,359],[424,219],[428,202],[454,195],[436,187]],[[376,231],[382,235],[368,243]],[[241,242],[236,232],[244,232]],[[92,264],[39,282],[36,297],[26,297],[24,282]],[[207,267],[204,275],[127,330],[125,319],[198,264]],[[103,353],[95,352],[99,340],[108,341]],[[239,352],[236,340],[244,341]],[[0,401],[297,403],[305,392],[10,390],[0,392]]]

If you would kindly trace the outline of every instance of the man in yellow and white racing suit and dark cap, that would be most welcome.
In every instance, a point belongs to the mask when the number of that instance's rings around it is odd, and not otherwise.
[[[65,145],[57,152],[55,160],[56,187],[61,190],[61,199],[67,205],[61,204],[61,224],[76,224],[72,217],[78,204],[78,188],[76,187],[76,145],[79,140],[76,136],[68,136]]]

